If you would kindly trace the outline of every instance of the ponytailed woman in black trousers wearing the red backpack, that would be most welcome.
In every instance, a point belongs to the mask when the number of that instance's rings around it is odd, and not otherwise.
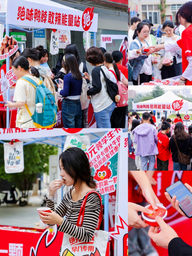
[[[117,64],[114,62],[113,57],[111,53],[106,52],[104,53],[105,62],[104,65],[108,68],[109,74],[110,74],[110,80],[114,83],[121,82],[121,72],[118,69]],[[127,91],[127,98],[128,98],[128,89],[125,85],[122,85],[122,88],[124,92]],[[125,95],[123,95],[125,96]],[[116,107],[113,110],[113,113],[111,115],[111,128],[125,128],[125,122],[126,122],[126,102],[125,106],[118,107],[116,104]]]

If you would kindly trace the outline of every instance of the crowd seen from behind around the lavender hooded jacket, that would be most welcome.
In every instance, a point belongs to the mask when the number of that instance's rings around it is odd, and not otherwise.
[[[174,121],[162,116],[161,123],[156,125],[153,111],[142,113],[140,119],[136,111],[131,115],[128,112],[129,154],[135,155],[137,171],[147,171],[148,163],[148,170],[154,171],[156,158],[157,170],[168,171],[170,157],[174,171],[186,171],[192,158],[192,125],[188,130],[189,133],[180,114],[175,115]]]

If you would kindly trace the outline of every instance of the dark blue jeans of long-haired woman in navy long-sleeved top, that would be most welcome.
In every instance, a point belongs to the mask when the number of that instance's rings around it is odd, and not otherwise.
[[[81,128],[82,112],[80,100],[63,99],[61,110],[65,128]]]

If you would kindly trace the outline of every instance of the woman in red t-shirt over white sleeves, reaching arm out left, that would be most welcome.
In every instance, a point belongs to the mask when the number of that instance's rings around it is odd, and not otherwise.
[[[179,85],[192,84],[192,2],[182,5],[176,14],[177,27],[183,25],[185,30],[182,32],[182,38],[178,41],[169,42],[167,44],[153,45],[153,52],[165,49],[166,52],[182,49],[182,76]],[[152,49],[151,49],[152,50]]]

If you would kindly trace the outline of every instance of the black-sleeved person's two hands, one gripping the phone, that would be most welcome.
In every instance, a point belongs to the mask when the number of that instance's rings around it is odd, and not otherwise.
[[[192,193],[192,187],[187,183],[185,183],[185,186]],[[181,215],[186,217],[184,212],[182,212],[179,208],[179,201],[176,200],[176,196],[173,196],[173,198],[171,199],[167,192],[165,192],[165,196],[172,204],[172,207],[175,208]],[[154,241],[154,243],[157,244],[157,246],[168,249],[169,256],[192,255],[192,246],[186,244],[181,238],[179,238],[173,228],[167,225],[164,220],[159,216],[156,216],[156,221],[159,226],[151,226],[148,235]],[[159,228],[161,228],[161,231],[158,233]]]

